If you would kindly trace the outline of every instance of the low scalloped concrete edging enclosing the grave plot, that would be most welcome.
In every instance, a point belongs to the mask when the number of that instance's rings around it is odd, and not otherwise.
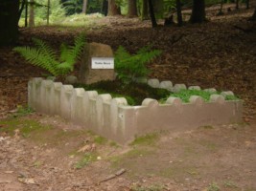
[[[186,88],[184,84],[173,86],[170,81],[150,79],[148,82],[151,86],[172,91]],[[42,78],[29,81],[28,89],[29,106],[35,111],[58,115],[121,144],[156,130],[190,130],[203,125],[242,121],[243,102],[224,100],[224,96],[232,92],[224,92],[222,96],[212,95],[210,102],[204,102],[200,96],[191,96],[190,103],[169,97],[164,104],[145,98],[140,106],[128,106],[123,97],[98,95],[96,91],[74,89],[72,85]]]

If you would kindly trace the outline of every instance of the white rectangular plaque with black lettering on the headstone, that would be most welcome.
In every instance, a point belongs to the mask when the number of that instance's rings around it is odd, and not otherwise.
[[[92,57],[91,58],[92,69],[114,69],[113,57]]]

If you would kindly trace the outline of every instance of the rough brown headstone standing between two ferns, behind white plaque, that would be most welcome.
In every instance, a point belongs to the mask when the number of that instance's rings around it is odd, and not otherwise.
[[[113,58],[114,54],[110,46],[100,43],[88,43],[82,54],[79,80],[85,84],[91,84],[103,80],[114,80],[114,69],[93,69],[92,58]]]

